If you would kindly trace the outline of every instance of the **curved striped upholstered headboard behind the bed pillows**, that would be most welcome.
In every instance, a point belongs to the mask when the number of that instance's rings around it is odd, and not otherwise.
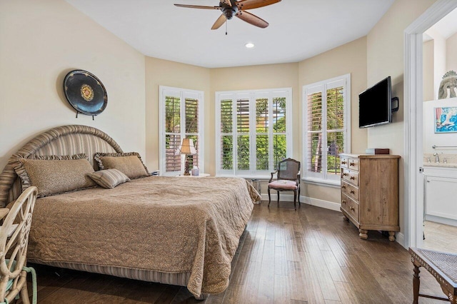
[[[74,155],[86,153],[92,166],[94,154],[122,153],[121,147],[103,131],[90,126],[69,125],[51,128],[31,139],[14,153],[0,174],[0,208],[14,201],[21,194],[21,181],[14,171],[18,165],[18,157],[29,158],[39,155]]]

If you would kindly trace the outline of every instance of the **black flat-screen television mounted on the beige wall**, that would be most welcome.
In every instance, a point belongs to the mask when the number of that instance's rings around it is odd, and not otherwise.
[[[358,127],[392,122],[391,76],[358,94]]]

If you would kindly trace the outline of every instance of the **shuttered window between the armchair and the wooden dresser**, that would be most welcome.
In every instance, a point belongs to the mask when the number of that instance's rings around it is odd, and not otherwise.
[[[348,152],[351,75],[303,86],[303,165],[308,181],[339,183]]]

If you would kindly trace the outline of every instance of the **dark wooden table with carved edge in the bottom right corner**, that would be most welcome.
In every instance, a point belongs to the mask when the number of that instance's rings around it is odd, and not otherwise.
[[[411,262],[414,265],[413,274],[413,304],[418,303],[418,298],[432,298],[437,300],[448,300],[457,304],[457,255],[453,253],[442,253],[439,251],[426,250],[421,248],[409,248]],[[441,285],[443,293],[448,298],[424,295],[419,293],[421,284],[419,273],[420,267],[426,268]]]

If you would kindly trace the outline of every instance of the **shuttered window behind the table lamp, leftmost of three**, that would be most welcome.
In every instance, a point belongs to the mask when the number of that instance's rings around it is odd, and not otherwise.
[[[204,92],[184,88],[159,87],[160,100],[160,164],[163,176],[176,176],[184,171],[185,158],[189,168],[198,166],[204,172],[203,104]],[[175,155],[182,138],[192,138],[195,155]]]

